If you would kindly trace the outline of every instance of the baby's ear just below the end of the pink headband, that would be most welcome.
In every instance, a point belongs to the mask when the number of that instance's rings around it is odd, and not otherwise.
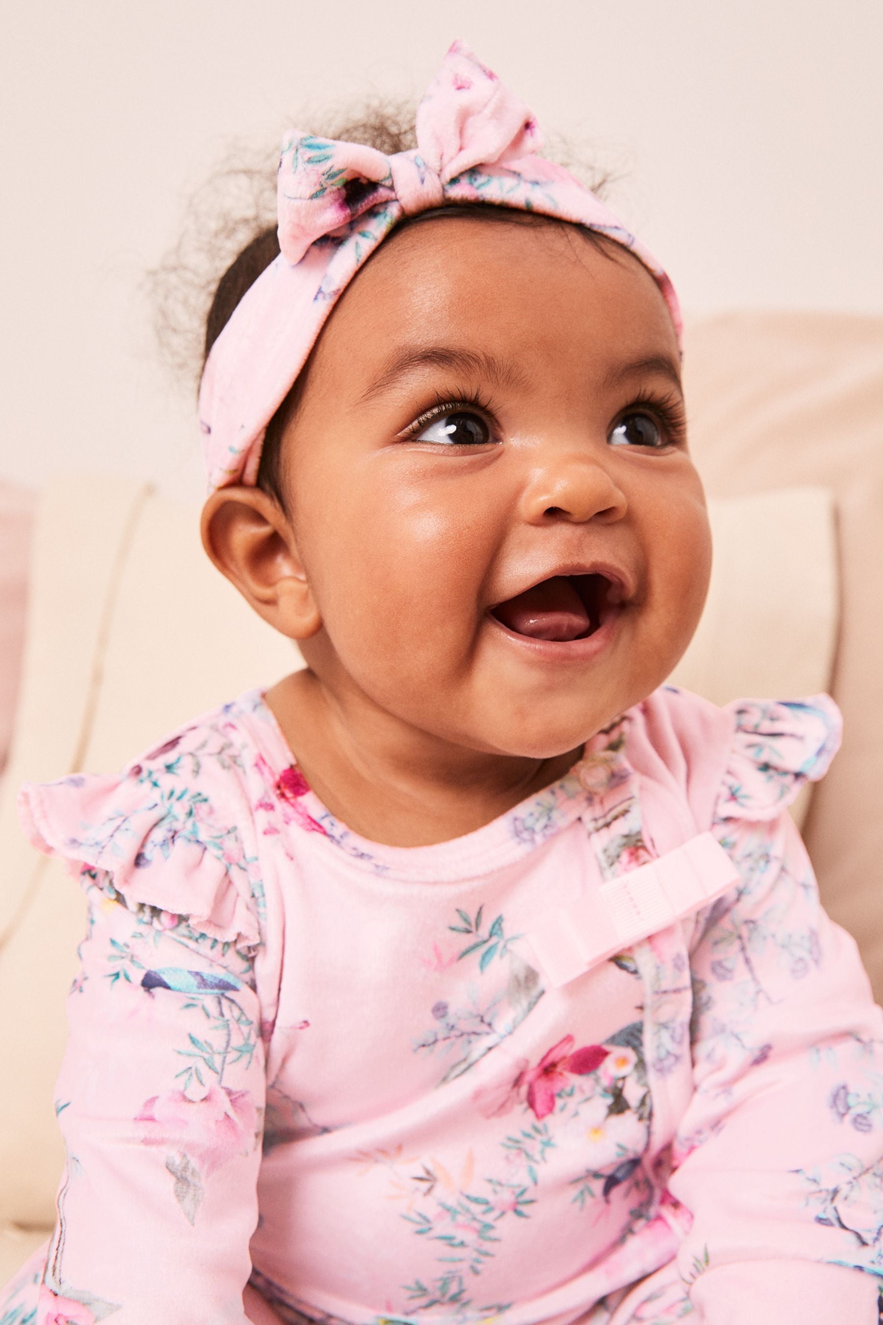
[[[203,507],[203,547],[265,621],[291,640],[322,627],[291,522],[259,488],[220,488]]]

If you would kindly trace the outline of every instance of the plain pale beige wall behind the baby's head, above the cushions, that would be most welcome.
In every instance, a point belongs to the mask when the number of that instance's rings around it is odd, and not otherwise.
[[[417,94],[454,36],[627,171],[614,203],[690,310],[883,310],[879,0],[9,3],[0,476],[195,493],[143,290],[184,199],[299,106]]]

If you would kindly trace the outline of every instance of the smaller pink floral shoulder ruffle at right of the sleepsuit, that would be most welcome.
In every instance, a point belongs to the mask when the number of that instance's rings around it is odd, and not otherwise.
[[[841,712],[827,694],[806,700],[735,700],[733,738],[715,820],[774,819],[808,782],[818,782],[841,743]]]

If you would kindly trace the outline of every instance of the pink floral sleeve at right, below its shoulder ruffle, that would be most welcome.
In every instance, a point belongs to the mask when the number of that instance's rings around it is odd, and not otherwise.
[[[694,1215],[680,1273],[708,1325],[875,1325],[883,1016],[789,816],[718,833],[743,886],[692,951],[695,1093],[670,1181]]]

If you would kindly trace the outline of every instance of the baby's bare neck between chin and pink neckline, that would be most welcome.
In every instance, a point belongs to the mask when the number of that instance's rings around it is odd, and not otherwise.
[[[372,705],[342,705],[310,670],[266,702],[307,782],[353,832],[426,847],[474,832],[561,778],[580,758],[528,759],[454,746]]]

